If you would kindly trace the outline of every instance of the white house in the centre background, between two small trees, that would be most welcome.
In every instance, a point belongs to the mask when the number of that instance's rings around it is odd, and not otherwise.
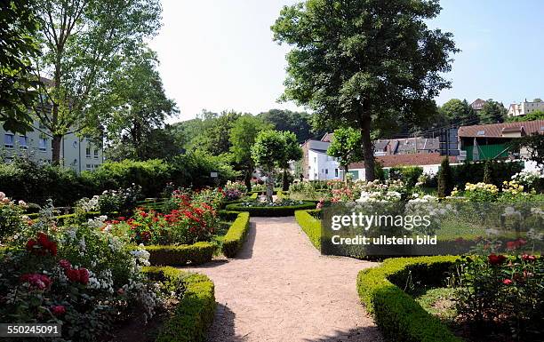
[[[313,139],[308,139],[302,144],[304,179],[340,179],[339,163],[335,158],[327,155],[329,145],[331,143],[328,141]]]

